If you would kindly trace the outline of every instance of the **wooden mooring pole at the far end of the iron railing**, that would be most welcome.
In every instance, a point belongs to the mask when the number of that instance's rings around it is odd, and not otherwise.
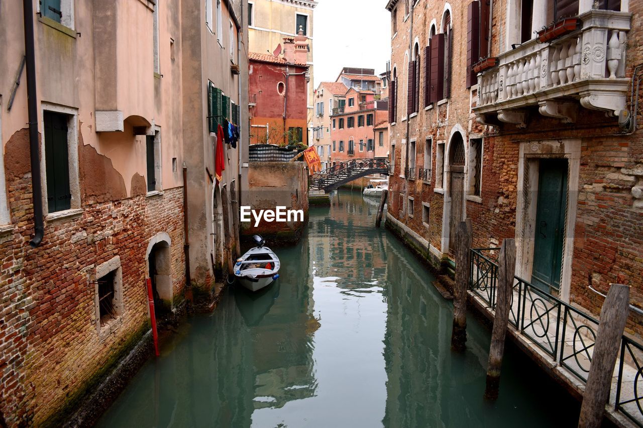
[[[453,329],[451,348],[464,351],[467,343],[467,288],[471,269],[471,240],[473,228],[467,218],[456,231],[455,285],[453,286]]]

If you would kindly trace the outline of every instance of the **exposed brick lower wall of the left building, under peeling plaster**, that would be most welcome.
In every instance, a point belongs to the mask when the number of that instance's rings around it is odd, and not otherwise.
[[[10,140],[7,159],[22,144]],[[6,162],[14,229],[0,239],[0,411],[9,426],[41,425],[64,417],[66,406],[149,328],[146,251],[159,232],[172,239],[172,279],[181,294],[183,189],[84,204],[77,217],[48,222],[42,245],[32,249],[31,177],[15,168]],[[116,255],[124,311],[98,331],[95,268]]]

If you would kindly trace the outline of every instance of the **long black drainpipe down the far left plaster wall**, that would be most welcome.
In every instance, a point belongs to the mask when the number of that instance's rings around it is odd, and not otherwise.
[[[44,220],[42,218],[42,182],[40,147],[38,142],[38,98],[36,95],[35,48],[33,41],[33,1],[23,0],[24,54],[27,64],[27,107],[29,113],[29,148],[32,163],[33,227],[35,233],[29,245],[33,248],[42,242]]]

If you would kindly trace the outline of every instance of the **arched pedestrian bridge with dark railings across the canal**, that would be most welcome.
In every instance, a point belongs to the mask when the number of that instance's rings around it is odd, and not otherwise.
[[[312,175],[310,190],[331,192],[331,190],[335,190],[342,184],[350,183],[366,175],[388,175],[389,166],[388,157],[350,159]]]

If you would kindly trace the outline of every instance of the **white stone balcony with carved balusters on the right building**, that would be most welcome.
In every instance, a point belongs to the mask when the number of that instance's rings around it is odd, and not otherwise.
[[[529,40],[498,57],[498,66],[478,74],[473,112],[485,125],[498,120],[524,128],[527,107],[574,123],[579,107],[618,116],[626,108],[626,37],[631,14],[590,10],[580,28],[559,39]]]

